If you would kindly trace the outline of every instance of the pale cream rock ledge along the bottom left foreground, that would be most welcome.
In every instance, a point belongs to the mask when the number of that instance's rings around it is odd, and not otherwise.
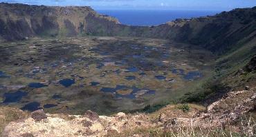
[[[85,116],[72,115],[60,118],[47,114],[47,118],[41,121],[28,118],[24,121],[10,123],[3,136],[21,136],[23,134],[33,136],[106,136],[118,134],[127,128],[134,129],[143,126],[154,126],[145,114],[99,116],[98,120],[91,120]]]

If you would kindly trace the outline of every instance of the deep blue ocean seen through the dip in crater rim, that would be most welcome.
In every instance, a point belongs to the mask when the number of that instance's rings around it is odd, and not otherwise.
[[[100,14],[116,17],[126,25],[160,25],[175,19],[190,19],[214,15],[220,11],[188,10],[96,10]]]

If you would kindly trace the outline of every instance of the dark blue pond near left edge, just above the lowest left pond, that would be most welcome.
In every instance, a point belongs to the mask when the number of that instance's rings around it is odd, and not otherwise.
[[[5,93],[3,96],[5,97],[5,100],[3,103],[17,103],[21,100],[23,96],[27,96],[27,92],[17,91],[15,93]]]

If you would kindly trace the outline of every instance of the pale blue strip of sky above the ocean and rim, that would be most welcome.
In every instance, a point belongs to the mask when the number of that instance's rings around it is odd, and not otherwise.
[[[232,10],[256,6],[256,0],[0,0],[45,6],[91,6],[95,10]]]

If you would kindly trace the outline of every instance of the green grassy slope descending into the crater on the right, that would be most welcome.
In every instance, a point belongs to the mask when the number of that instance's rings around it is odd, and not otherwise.
[[[139,112],[155,112],[158,109],[165,107],[168,104],[176,103],[199,103],[208,105],[217,99],[221,98],[226,92],[230,90],[235,91],[244,89],[246,85],[251,87],[256,85],[256,73],[246,72],[245,74],[237,74],[239,69],[252,59],[256,53],[256,38],[244,43],[244,39],[237,42],[233,49],[218,56],[215,63],[215,69],[208,77],[201,81],[192,83],[187,87],[180,89],[180,93],[190,91],[184,96],[163,101],[156,105],[148,105],[144,109],[135,110]]]

